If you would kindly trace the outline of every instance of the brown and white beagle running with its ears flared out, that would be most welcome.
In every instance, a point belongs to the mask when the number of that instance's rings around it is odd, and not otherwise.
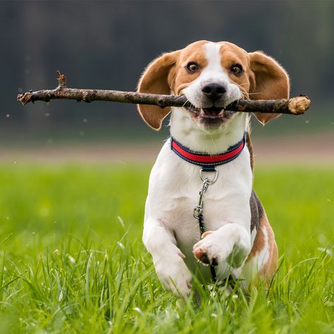
[[[149,178],[143,232],[162,285],[187,298],[192,275],[203,283],[270,280],[278,249],[252,190],[249,115],[225,107],[241,98],[287,98],[285,70],[263,52],[199,41],[152,61],[138,92],[185,95],[192,104],[137,106],[155,130],[171,113],[171,138]],[[254,116],[265,124],[278,114]]]

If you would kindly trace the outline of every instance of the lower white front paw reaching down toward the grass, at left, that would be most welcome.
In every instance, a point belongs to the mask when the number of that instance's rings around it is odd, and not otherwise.
[[[175,261],[155,261],[154,266],[163,287],[187,299],[192,287],[192,275],[183,259],[178,256]]]

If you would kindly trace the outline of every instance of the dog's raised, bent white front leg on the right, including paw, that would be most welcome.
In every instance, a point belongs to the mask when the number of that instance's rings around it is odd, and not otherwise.
[[[218,265],[226,261],[233,268],[239,268],[251,250],[251,239],[247,229],[236,223],[228,223],[215,231],[202,235],[194,244],[194,256],[203,263]]]

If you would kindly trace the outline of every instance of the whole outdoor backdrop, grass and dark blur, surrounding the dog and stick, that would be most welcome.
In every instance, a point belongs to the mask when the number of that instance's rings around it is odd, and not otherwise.
[[[204,39],[263,50],[290,74],[291,95],[311,98],[302,116],[252,120],[254,189],[283,265],[273,294],[256,292],[255,313],[233,301],[245,323],[212,326],[333,333],[333,0],[0,0],[0,333],[120,333],[120,323],[192,333],[141,241],[168,120],[155,132],[135,105],[23,107],[16,96],[55,88],[57,70],[70,88],[135,90],[149,61]]]

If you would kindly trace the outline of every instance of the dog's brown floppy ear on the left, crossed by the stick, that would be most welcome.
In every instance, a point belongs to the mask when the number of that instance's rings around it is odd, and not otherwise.
[[[178,59],[179,51],[170,52],[154,59],[142,74],[137,92],[151,94],[170,94],[171,82],[175,76],[171,69]],[[171,112],[171,107],[156,105],[137,105],[142,119],[154,130],[160,130],[163,119]]]

